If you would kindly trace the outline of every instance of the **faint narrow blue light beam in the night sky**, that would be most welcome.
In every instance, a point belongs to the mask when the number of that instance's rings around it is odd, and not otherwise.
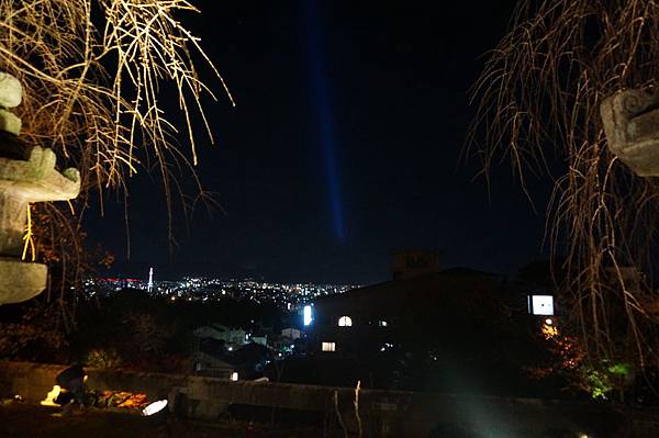
[[[309,52],[311,86],[313,88],[313,104],[317,117],[319,143],[325,168],[327,195],[332,210],[334,233],[340,243],[345,243],[346,229],[340,196],[338,162],[336,159],[336,138],[330,103],[330,81],[327,79],[327,68],[323,52],[319,4],[317,0],[306,0],[303,3],[305,4],[306,12],[306,48]]]

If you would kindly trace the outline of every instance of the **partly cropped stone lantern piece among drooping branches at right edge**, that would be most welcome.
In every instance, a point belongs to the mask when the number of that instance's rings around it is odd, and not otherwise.
[[[659,90],[621,90],[600,105],[608,148],[639,177],[659,176]]]

